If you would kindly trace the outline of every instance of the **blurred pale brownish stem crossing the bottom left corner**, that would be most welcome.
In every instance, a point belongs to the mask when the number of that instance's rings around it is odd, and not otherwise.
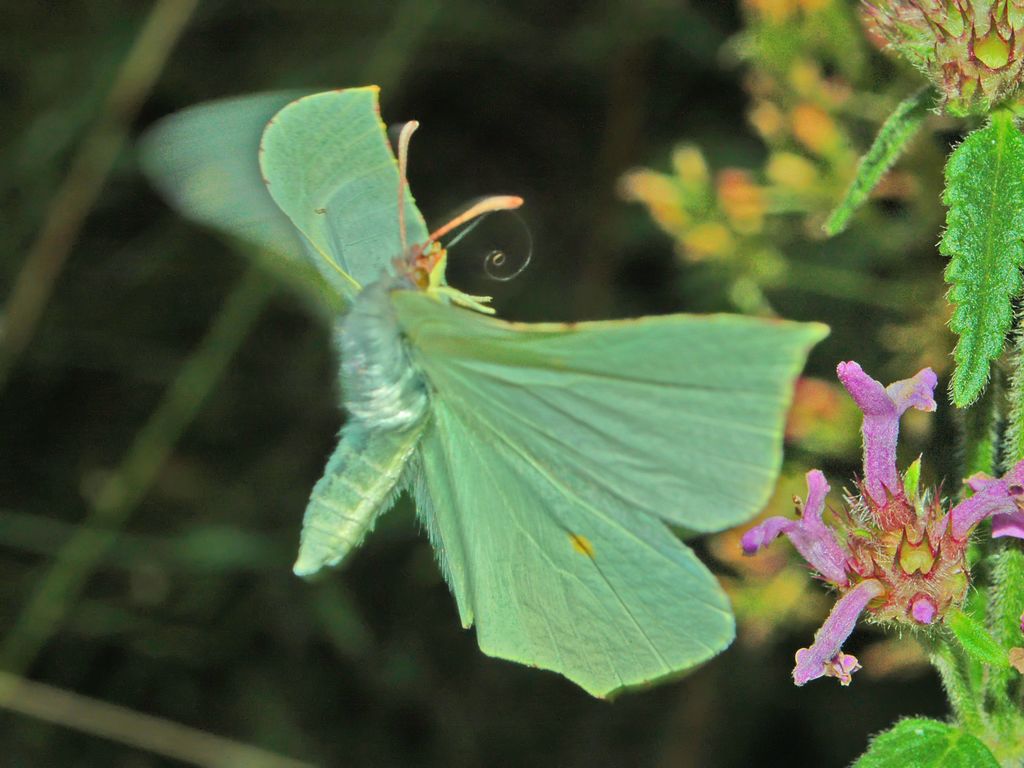
[[[5,672],[0,672],[0,707],[190,765],[311,768],[309,763]]]

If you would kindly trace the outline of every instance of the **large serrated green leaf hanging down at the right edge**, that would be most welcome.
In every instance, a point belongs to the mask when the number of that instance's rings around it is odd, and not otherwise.
[[[959,335],[950,390],[964,408],[985,388],[989,362],[1002,351],[1021,291],[1024,263],[1024,136],[1006,113],[968,136],[946,163],[948,207],[939,251],[956,305],[949,327]]]

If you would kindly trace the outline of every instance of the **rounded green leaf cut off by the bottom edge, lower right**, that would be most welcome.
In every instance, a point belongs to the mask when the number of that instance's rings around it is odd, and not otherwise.
[[[853,768],[999,768],[970,733],[947,723],[910,718],[876,736]]]

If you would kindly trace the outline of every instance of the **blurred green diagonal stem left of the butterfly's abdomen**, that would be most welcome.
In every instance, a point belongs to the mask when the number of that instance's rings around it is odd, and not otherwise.
[[[0,667],[24,673],[58,630],[69,606],[220,380],[271,292],[269,281],[257,267],[249,267],[135,436],[121,466],[97,492],[86,519],[57,551],[49,571],[36,582],[20,615],[0,644]]]

